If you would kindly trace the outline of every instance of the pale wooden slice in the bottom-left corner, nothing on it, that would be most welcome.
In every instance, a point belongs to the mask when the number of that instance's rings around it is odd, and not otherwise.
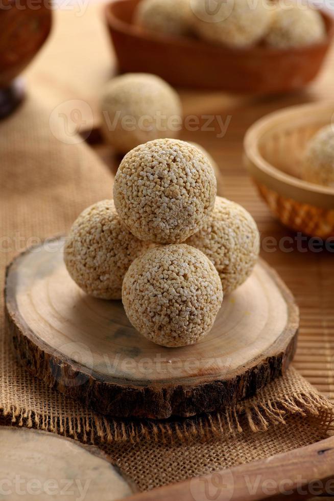
[[[112,501],[138,491],[97,447],[45,431],[7,426],[0,427],[0,443],[4,499]]]

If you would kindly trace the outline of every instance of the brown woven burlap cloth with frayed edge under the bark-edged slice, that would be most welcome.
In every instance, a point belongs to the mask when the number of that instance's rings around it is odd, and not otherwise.
[[[77,136],[65,136],[61,122],[51,133],[49,116],[50,110],[30,97],[0,124],[2,287],[5,266],[15,254],[64,234],[85,207],[111,196],[107,168]],[[3,315],[0,321],[1,422],[98,444],[140,489],[308,445],[325,438],[331,427],[332,405],[293,369],[219,414],[165,423],[106,419],[20,367]]]

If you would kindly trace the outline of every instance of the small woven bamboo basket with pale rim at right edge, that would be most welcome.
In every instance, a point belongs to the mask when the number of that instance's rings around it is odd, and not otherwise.
[[[309,236],[334,236],[334,188],[299,178],[306,143],[331,123],[334,103],[293,106],[257,121],[245,136],[245,161],[280,221]]]

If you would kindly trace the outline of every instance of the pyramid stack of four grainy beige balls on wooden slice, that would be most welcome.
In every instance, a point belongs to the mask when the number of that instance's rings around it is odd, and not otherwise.
[[[196,343],[223,293],[251,274],[259,252],[254,220],[216,196],[203,151],[174,139],[125,155],[113,196],[73,224],[64,248],[70,276],[96,298],[122,299],[132,325],[154,343]]]

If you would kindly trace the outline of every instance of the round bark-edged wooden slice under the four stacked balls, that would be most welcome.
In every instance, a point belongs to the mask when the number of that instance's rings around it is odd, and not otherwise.
[[[193,416],[254,395],[294,355],[298,308],[260,261],[223,302],[198,344],[164,348],[140,335],[120,301],[88,297],[69,277],[63,239],[33,247],[7,270],[6,317],[27,368],[114,416]]]

